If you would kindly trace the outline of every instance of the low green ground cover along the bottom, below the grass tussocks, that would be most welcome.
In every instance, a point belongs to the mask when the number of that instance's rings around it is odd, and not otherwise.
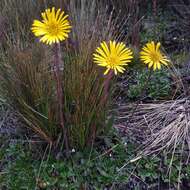
[[[109,137],[110,138],[110,137]],[[106,139],[106,138],[105,138]],[[116,137],[113,142],[105,140],[105,149],[84,149],[72,151],[72,158],[67,160],[59,152],[55,157],[46,147],[43,158],[32,153],[30,144],[11,143],[4,139],[1,148],[0,176],[1,189],[148,189],[159,185],[163,187],[183,187],[183,182],[190,180],[190,167],[171,154],[145,157],[136,163],[129,161],[134,157],[135,145],[123,145]],[[115,141],[115,142],[114,142]],[[128,164],[126,164],[128,163]],[[124,168],[122,168],[125,166]],[[133,188],[130,182],[135,181]]]

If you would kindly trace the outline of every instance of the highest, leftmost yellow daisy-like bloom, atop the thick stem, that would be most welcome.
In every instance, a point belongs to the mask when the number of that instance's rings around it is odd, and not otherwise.
[[[55,7],[46,9],[41,13],[42,21],[34,20],[31,30],[36,37],[41,37],[40,41],[51,45],[52,43],[59,43],[68,38],[71,26],[68,21],[68,15],[64,11]]]

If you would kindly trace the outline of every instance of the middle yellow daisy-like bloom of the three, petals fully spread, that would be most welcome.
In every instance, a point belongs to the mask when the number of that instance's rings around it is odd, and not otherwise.
[[[133,58],[132,51],[126,48],[124,43],[115,41],[110,41],[109,45],[102,42],[93,56],[95,63],[107,68],[104,75],[108,74],[110,70],[113,70],[116,75],[118,72],[123,73],[124,66],[128,65],[127,63],[131,62]]]

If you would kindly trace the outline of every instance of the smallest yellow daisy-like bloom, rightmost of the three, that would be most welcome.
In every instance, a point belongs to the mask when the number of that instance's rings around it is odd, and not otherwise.
[[[147,43],[140,52],[140,59],[145,64],[148,64],[148,67],[153,67],[153,70],[160,69],[161,65],[168,65],[168,58],[162,54],[160,51],[160,42],[157,44],[155,42]]]

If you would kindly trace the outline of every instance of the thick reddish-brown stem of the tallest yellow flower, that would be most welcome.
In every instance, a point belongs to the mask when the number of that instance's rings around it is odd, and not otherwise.
[[[67,136],[67,128],[65,127],[65,120],[64,120],[64,113],[63,113],[63,89],[61,85],[61,72],[60,72],[60,44],[55,44],[55,51],[54,51],[54,77],[56,81],[56,90],[57,90],[57,101],[58,101],[58,110],[59,110],[59,119],[60,119],[60,125],[63,129],[63,135],[64,135],[64,142],[65,142],[65,148],[66,153],[69,152],[69,144],[68,144],[68,136]]]

